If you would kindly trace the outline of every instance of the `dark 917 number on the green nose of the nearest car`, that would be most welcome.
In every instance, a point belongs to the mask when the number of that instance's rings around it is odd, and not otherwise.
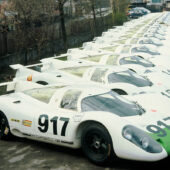
[[[167,117],[165,119],[163,119],[164,121],[170,120],[170,117]],[[148,125],[146,127],[146,129],[154,134],[157,134],[157,136],[159,137],[164,137],[167,135],[166,131],[164,129],[162,129],[161,127],[164,127],[166,129],[170,130],[170,125],[167,125],[166,123],[162,122],[162,121],[157,121],[157,125]]]

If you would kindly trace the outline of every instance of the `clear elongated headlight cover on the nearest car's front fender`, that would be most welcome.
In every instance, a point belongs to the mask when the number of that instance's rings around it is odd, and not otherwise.
[[[125,126],[122,130],[122,136],[149,153],[162,152],[162,147],[158,142],[135,126]]]

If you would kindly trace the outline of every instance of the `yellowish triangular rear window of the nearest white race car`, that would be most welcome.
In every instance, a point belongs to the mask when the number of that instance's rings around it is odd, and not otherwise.
[[[64,86],[62,86],[64,87]],[[49,103],[50,99],[56,92],[56,90],[60,87],[48,87],[48,88],[40,88],[40,89],[31,89],[24,91],[24,94],[31,96],[34,99],[37,99],[44,103]]]

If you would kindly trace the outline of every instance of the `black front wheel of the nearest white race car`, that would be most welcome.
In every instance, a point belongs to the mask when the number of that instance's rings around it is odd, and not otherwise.
[[[114,156],[111,137],[100,124],[90,125],[83,130],[81,146],[86,157],[97,165],[110,163]]]

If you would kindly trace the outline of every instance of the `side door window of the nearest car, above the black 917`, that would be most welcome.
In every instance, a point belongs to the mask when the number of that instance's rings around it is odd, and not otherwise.
[[[68,90],[65,92],[60,107],[63,109],[77,110],[77,101],[80,97],[81,91]]]

